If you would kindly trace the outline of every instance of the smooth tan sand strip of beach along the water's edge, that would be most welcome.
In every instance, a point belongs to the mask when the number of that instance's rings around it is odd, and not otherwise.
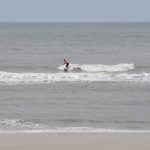
[[[149,150],[150,134],[1,134],[1,150]]]

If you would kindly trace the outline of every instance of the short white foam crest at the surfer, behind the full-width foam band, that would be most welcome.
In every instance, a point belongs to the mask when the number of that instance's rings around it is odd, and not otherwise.
[[[64,66],[58,67],[64,70]],[[86,72],[120,72],[134,69],[134,64],[117,64],[117,65],[101,65],[101,64],[70,64],[70,71],[86,71]]]

